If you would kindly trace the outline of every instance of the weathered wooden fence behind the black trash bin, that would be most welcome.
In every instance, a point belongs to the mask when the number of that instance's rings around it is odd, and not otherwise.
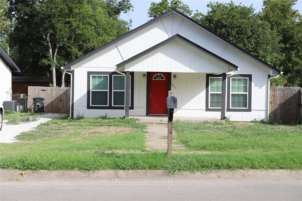
[[[27,109],[33,109],[33,98],[44,98],[45,112],[69,111],[70,87],[28,87]]]

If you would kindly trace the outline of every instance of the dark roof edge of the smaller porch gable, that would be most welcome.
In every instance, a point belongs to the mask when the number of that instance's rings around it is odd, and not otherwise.
[[[140,57],[142,57],[142,56],[148,54],[149,52],[152,52],[153,50],[155,50],[155,49],[157,49],[157,48],[159,48],[159,47],[161,47],[161,46],[163,46],[163,45],[165,45],[165,44],[167,44],[167,43],[170,43],[171,41],[173,41],[173,40],[175,40],[175,39],[182,40],[183,42],[185,42],[185,43],[187,43],[187,44],[189,44],[189,45],[195,47],[196,49],[199,49],[201,52],[204,52],[204,53],[206,53],[206,54],[209,55],[209,56],[214,57],[214,58],[217,59],[218,61],[223,62],[224,64],[230,66],[231,68],[233,68],[233,69],[235,69],[235,70],[237,70],[237,68],[238,68],[238,66],[236,66],[235,64],[233,64],[233,63],[231,63],[231,62],[229,62],[229,61],[227,61],[227,60],[221,58],[220,56],[218,56],[218,55],[216,55],[216,54],[210,52],[209,50],[207,50],[207,49],[205,49],[205,48],[199,46],[199,45],[196,44],[196,43],[193,43],[191,40],[188,40],[188,39],[186,39],[185,37],[182,37],[182,36],[179,35],[179,34],[175,34],[174,36],[168,38],[167,40],[164,40],[164,41],[162,41],[161,43],[158,43],[157,45],[155,45],[155,46],[153,46],[153,47],[150,47],[149,49],[146,49],[145,51],[143,51],[143,52],[141,52],[141,53],[139,53],[139,54],[137,54],[137,55],[135,55],[135,56],[133,56],[133,57],[131,57],[131,58],[129,58],[129,59],[123,61],[123,62],[120,62],[120,63],[117,64],[116,66],[117,66],[117,68],[121,68],[122,66],[126,65],[127,63],[130,63],[130,62],[134,61],[135,59],[138,59],[138,58],[140,58]]]

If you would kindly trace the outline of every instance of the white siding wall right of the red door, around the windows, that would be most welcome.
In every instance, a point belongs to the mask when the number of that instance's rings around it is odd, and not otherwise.
[[[239,73],[238,73],[239,74]],[[263,101],[267,97],[267,75],[261,72],[240,72],[252,75],[252,111],[226,112],[232,121],[251,121],[253,119],[266,120],[267,104]],[[173,73],[172,73],[173,75]],[[175,116],[217,117],[220,112],[206,111],[206,73],[176,73],[176,79],[171,80],[171,90],[177,97]],[[266,77],[265,77],[266,76]],[[227,97],[226,97],[227,98]]]

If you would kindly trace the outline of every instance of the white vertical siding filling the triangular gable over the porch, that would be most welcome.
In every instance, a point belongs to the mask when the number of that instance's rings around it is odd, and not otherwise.
[[[125,71],[228,72],[228,66],[182,40],[175,39],[125,65]]]

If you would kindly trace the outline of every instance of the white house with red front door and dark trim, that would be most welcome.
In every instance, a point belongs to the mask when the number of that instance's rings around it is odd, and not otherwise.
[[[71,116],[167,114],[267,120],[270,75],[281,72],[176,10],[64,66]],[[125,105],[125,107],[124,107]]]

